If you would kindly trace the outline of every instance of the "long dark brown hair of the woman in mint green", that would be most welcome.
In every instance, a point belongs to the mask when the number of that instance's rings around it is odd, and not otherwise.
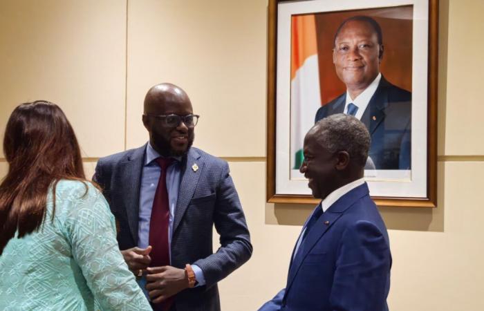
[[[51,102],[21,104],[8,119],[3,152],[9,164],[0,184],[0,255],[18,230],[19,238],[39,229],[47,192],[61,179],[85,180],[77,139],[64,112]]]

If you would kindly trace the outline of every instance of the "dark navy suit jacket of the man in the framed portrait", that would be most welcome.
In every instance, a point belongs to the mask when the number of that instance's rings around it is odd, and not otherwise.
[[[344,113],[346,92],[318,109],[315,122]],[[375,169],[411,169],[411,93],[383,76],[361,121],[369,129]]]

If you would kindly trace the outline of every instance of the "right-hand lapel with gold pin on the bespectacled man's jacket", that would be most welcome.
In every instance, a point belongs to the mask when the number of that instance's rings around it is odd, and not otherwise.
[[[203,166],[205,162],[200,161],[200,154],[196,149],[190,148],[187,154],[187,160],[182,165],[182,180],[180,182],[180,189],[178,190],[178,200],[176,202],[175,218],[173,225],[173,232],[180,225],[181,219],[187,210],[188,204],[194,196],[196,184],[201,174],[203,173]],[[198,169],[193,169],[194,165]]]

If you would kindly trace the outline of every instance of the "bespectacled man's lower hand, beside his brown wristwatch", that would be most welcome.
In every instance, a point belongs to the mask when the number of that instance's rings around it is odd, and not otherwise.
[[[147,268],[147,285],[149,298],[153,303],[160,303],[170,296],[188,288],[185,270],[165,265]]]

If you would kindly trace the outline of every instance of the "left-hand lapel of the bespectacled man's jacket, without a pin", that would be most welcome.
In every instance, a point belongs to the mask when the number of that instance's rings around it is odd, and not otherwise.
[[[146,144],[135,149],[125,162],[121,163],[123,180],[120,180],[120,204],[124,205],[128,217],[129,230],[134,243],[138,243],[138,218],[140,214],[141,174],[145,160]],[[137,186],[136,186],[137,185]]]

